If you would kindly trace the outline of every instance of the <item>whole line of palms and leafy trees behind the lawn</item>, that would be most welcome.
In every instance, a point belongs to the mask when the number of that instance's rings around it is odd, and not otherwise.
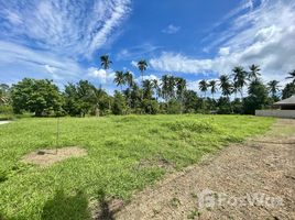
[[[109,69],[110,57],[100,57],[101,67]],[[270,107],[281,98],[295,94],[295,70],[286,78],[292,81],[281,90],[278,81],[263,84],[261,69],[251,65],[249,69],[233,67],[229,75],[218,79],[196,82],[201,96],[187,88],[182,77],[166,74],[161,79],[144,79],[148,63],[138,62],[141,80],[131,72],[116,72],[113,82],[118,87],[110,96],[101,87],[88,80],[68,82],[61,91],[48,79],[24,78],[9,87],[0,85],[0,113],[33,113],[46,116],[106,116],[106,114],[156,114],[156,113],[245,113]],[[217,92],[219,98],[215,98]],[[245,92],[247,91],[247,92]],[[208,92],[210,96],[208,96]],[[244,96],[247,94],[247,96]]]

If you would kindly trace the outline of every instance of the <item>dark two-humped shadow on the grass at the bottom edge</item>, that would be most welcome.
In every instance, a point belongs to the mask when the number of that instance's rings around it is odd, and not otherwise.
[[[91,219],[88,208],[88,198],[84,191],[74,196],[65,195],[63,190],[56,191],[54,198],[46,201],[43,207],[42,220],[87,220]]]

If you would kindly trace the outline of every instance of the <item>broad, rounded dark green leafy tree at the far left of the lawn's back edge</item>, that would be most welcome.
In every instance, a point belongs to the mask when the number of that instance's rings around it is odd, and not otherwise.
[[[63,98],[57,86],[48,79],[24,78],[12,86],[11,98],[15,113],[33,112],[36,117],[61,114]]]

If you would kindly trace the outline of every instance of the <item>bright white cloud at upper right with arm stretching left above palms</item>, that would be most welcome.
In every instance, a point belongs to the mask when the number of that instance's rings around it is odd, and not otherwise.
[[[150,61],[156,70],[181,73],[229,74],[236,65],[261,65],[266,80],[283,80],[295,68],[295,2],[262,0],[255,9],[232,21],[220,37],[234,33],[210,59],[190,58],[182,54],[163,53]],[[285,74],[285,75],[284,75]]]

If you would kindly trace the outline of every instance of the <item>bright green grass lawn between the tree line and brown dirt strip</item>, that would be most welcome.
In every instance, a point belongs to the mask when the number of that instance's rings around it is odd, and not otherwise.
[[[102,195],[129,199],[168,170],[261,134],[273,121],[198,114],[62,118],[59,145],[84,147],[88,155],[47,168],[20,158],[55,147],[56,119],[0,125],[0,219],[89,219],[89,201]]]

